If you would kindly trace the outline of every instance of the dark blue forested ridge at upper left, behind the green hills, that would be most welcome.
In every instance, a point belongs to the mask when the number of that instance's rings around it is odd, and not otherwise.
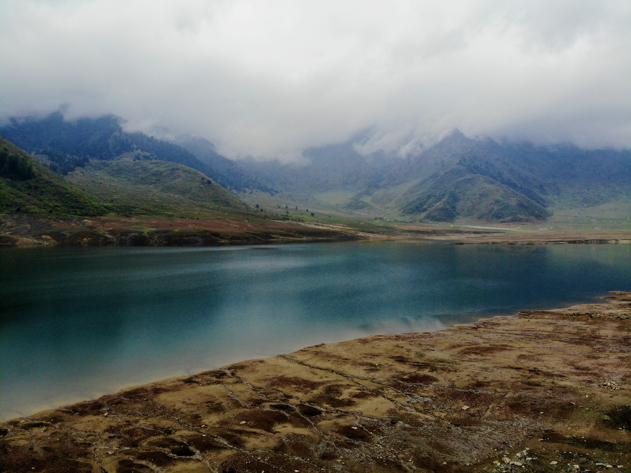
[[[266,192],[273,191],[257,182],[256,178],[248,177],[237,163],[217,153],[212,159],[203,161],[179,144],[143,133],[124,132],[121,119],[114,115],[72,121],[65,120],[59,112],[44,118],[11,118],[8,124],[0,127],[0,136],[27,150],[62,175],[85,166],[91,159],[113,160],[123,153],[144,151],[159,160],[196,169],[230,189],[242,190],[252,186]]]

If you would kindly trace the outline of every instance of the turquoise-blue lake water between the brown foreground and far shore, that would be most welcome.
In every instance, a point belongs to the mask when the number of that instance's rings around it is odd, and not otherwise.
[[[0,416],[616,289],[631,290],[631,245],[0,250]]]

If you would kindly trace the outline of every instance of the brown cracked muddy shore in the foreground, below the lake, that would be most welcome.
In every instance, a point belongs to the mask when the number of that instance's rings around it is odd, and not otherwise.
[[[605,299],[320,344],[14,419],[0,471],[628,469],[631,293]]]

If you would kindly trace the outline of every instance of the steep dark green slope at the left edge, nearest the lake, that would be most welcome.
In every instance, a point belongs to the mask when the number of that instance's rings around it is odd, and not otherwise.
[[[106,211],[85,192],[0,137],[0,212],[94,216]]]

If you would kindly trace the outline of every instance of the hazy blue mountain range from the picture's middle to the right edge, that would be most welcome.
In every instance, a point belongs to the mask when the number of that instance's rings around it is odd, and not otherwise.
[[[353,143],[305,151],[306,165],[244,163],[310,204],[420,221],[543,221],[560,208],[628,200],[631,151],[470,139],[454,131],[406,159],[362,156]],[[280,202],[279,202],[280,204]]]

